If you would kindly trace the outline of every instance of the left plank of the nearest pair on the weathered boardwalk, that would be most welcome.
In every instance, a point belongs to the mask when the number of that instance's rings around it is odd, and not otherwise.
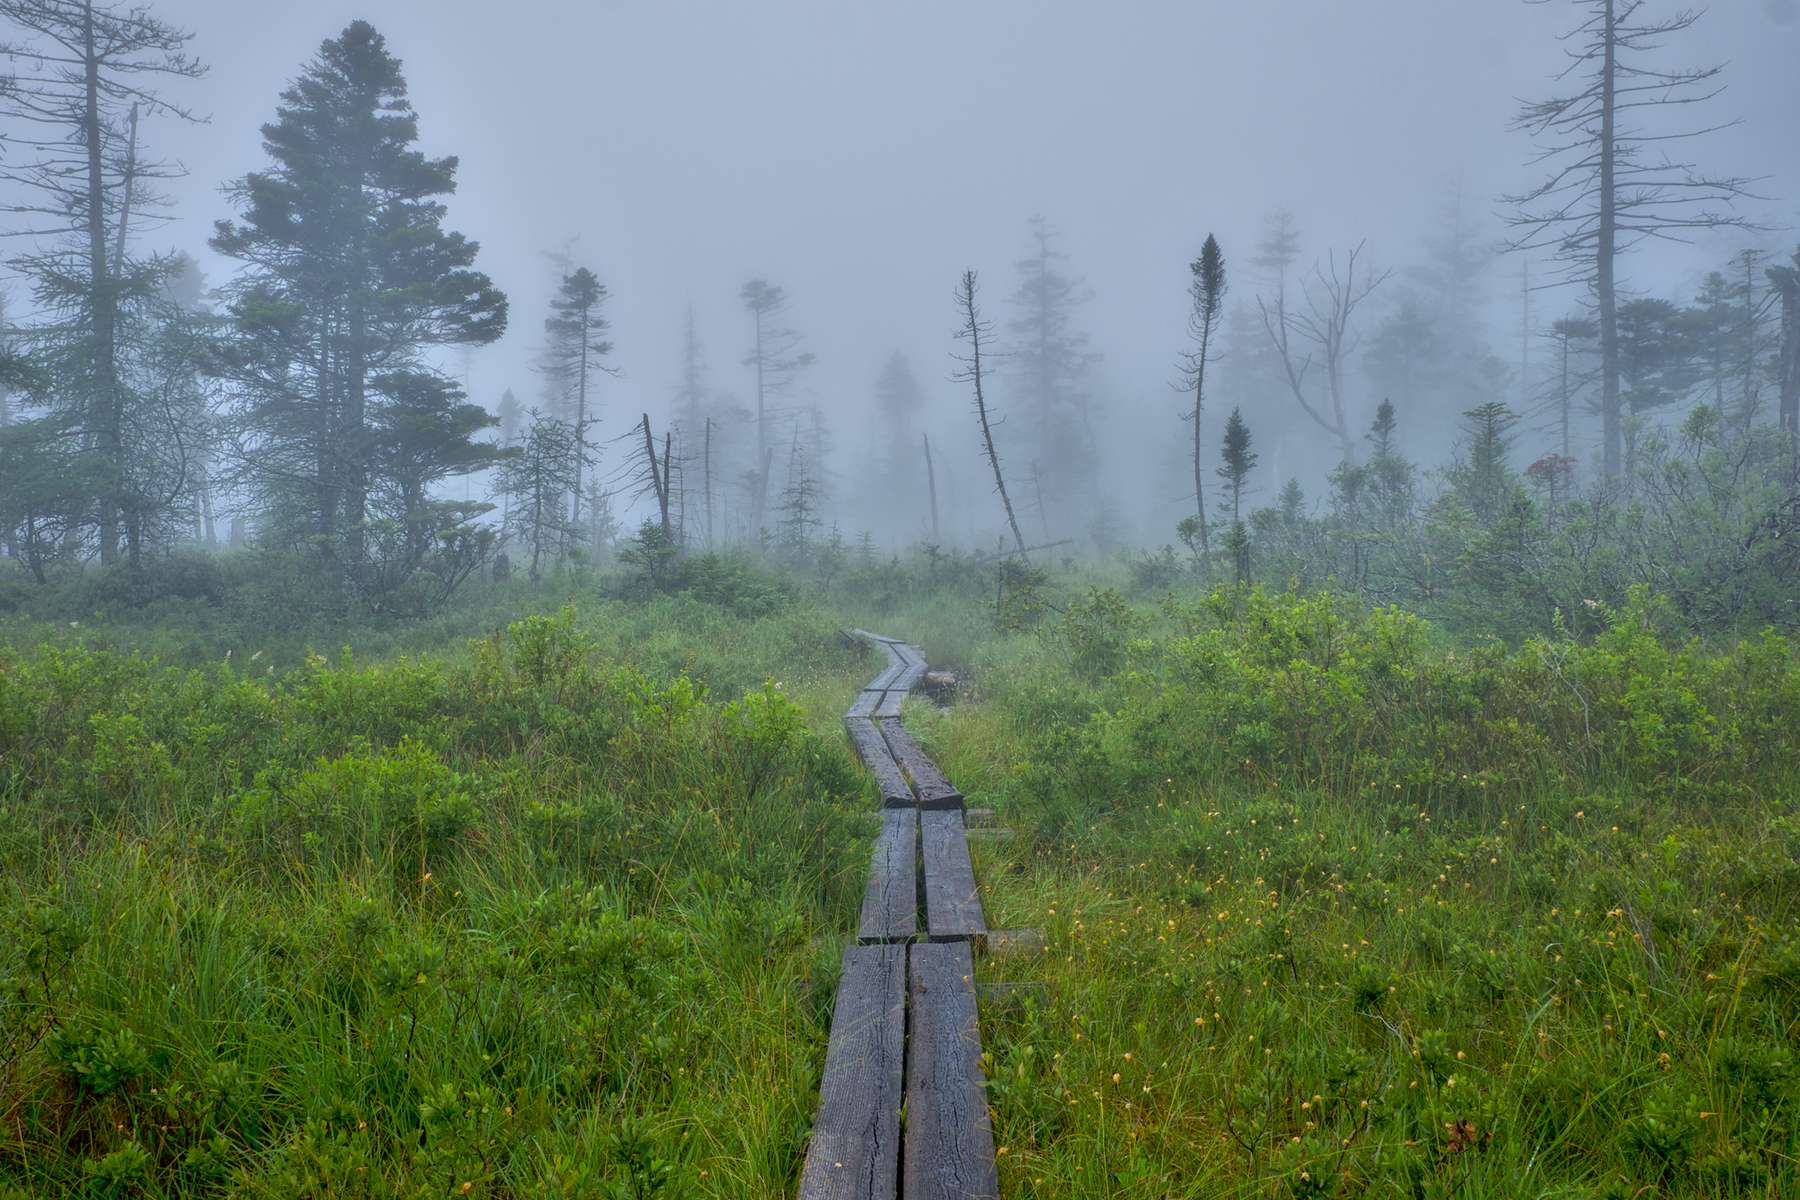
[[[799,1200],[891,1200],[900,1168],[905,946],[850,946]]]

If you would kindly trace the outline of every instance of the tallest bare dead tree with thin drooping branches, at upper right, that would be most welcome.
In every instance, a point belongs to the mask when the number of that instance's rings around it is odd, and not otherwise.
[[[1672,146],[1732,122],[1681,130],[1658,122],[1724,90],[1723,67],[1665,70],[1652,63],[1703,11],[1681,9],[1654,20],[1643,13],[1645,0],[1528,2],[1568,2],[1582,20],[1561,36],[1568,65],[1555,76],[1575,90],[1526,103],[1512,122],[1537,140],[1530,164],[1544,166],[1548,175],[1505,198],[1516,230],[1508,248],[1553,252],[1562,264],[1555,282],[1580,284],[1593,295],[1604,462],[1613,479],[1624,464],[1618,255],[1651,239],[1688,241],[1699,230],[1750,228],[1750,221],[1728,209],[1753,194],[1751,180],[1703,175],[1696,164],[1670,155]]]

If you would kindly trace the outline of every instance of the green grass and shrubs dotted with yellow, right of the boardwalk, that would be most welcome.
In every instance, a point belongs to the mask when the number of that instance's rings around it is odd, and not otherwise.
[[[1789,644],[1091,597],[977,675],[1004,1195],[1800,1189]]]

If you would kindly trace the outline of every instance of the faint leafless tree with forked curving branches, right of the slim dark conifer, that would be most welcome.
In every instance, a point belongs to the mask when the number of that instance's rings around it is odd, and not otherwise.
[[[1289,308],[1287,293],[1276,293],[1271,308],[1264,297],[1256,297],[1256,309],[1262,313],[1262,327],[1282,360],[1282,376],[1294,394],[1300,408],[1312,417],[1319,428],[1337,439],[1345,461],[1355,455],[1355,435],[1350,432],[1350,412],[1345,398],[1345,365],[1355,353],[1359,338],[1350,331],[1357,308],[1393,272],[1375,272],[1357,264],[1368,243],[1359,241],[1337,261],[1332,250],[1325,263],[1312,264],[1312,279],[1301,282],[1301,306]],[[1314,403],[1307,398],[1307,376],[1312,367],[1325,367],[1325,398]]]

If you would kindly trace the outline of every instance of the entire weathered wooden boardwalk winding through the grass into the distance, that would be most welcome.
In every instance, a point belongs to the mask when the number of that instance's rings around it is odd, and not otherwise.
[[[855,635],[887,655],[844,716],[875,775],[882,829],[857,945],[844,950],[799,1200],[992,1200],[974,963],[988,928],[963,795],[900,725],[925,657]]]

